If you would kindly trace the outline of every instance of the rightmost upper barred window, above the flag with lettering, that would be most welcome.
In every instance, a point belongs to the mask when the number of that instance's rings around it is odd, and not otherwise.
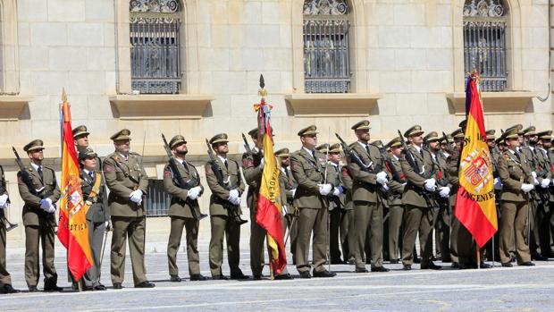
[[[508,88],[507,13],[502,0],[466,0],[464,5],[464,63],[476,69],[482,91]]]

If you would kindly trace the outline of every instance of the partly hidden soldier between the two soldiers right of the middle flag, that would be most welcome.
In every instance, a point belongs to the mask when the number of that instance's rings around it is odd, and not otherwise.
[[[331,257],[332,265],[344,265],[347,262],[343,261],[340,255],[340,223],[342,220],[343,207],[345,205],[344,186],[341,181],[340,169],[340,144],[333,144],[331,147],[328,144],[322,144],[315,148],[322,154],[327,154],[329,148],[329,156],[327,157],[327,181],[330,181],[333,187],[339,190],[339,195],[331,195],[329,198],[329,256]],[[344,251],[344,250],[343,250]],[[345,254],[345,257],[348,257]]]

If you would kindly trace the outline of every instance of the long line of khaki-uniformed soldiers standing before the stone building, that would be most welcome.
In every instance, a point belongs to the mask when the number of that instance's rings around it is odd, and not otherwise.
[[[485,257],[499,257],[502,266],[512,266],[513,261],[520,266],[533,266],[532,259],[554,256],[554,218],[550,209],[550,202],[554,201],[552,131],[537,132],[534,127],[523,130],[521,125],[516,125],[503,131],[498,139],[495,131],[487,131],[499,232],[485,249],[479,250],[480,257],[476,257],[478,249],[471,234],[454,216],[465,123],[460,123],[460,128],[448,136],[439,136],[435,131],[424,136],[423,129],[416,125],[404,132],[404,138],[391,139],[386,145],[381,141],[371,142],[367,120],[357,122],[351,129],[357,141],[350,145],[338,135],[340,143],[318,145],[317,128],[311,125],[298,131],[302,145],[298,151],[290,153],[289,148],[275,151],[282,173],[282,226],[288,229],[283,239],[290,241],[293,264],[300,278],[335,276],[325,268],[328,262],[350,263],[355,265],[355,272],[367,273],[366,264],[371,264],[372,272],[389,271],[383,266],[383,260],[391,264],[401,261],[405,270],[410,270],[418,260],[421,269],[441,269],[442,266],[433,263],[441,258],[442,262],[451,262],[452,268],[464,269],[489,267],[483,262]],[[227,156],[227,134],[217,134],[207,142],[211,156],[205,171],[211,190],[212,279],[229,279],[222,274],[223,238],[231,279],[249,278],[239,268],[240,225],[246,223],[240,217],[241,196],[246,189],[244,181],[248,184],[251,220],[251,271],[255,280],[264,277],[266,233],[254,222],[264,169],[262,142],[258,141],[257,132],[257,128],[248,132],[255,146],[250,149],[246,142],[247,152],[242,155],[241,164]],[[130,152],[130,131],[123,129],[111,137],[114,152],[102,162],[88,148],[88,135],[86,126],[73,130],[94,259],[82,279],[85,290],[105,290],[100,282],[100,267],[106,231],[113,231],[110,254],[113,289],[122,289],[127,240],[135,287],[155,287],[147,280],[144,263],[143,202],[148,181],[142,156]],[[29,291],[38,291],[40,244],[44,291],[62,291],[57,286],[54,266],[55,203],[61,193],[54,170],[42,164],[42,140],[35,139],[23,149],[30,161],[18,173],[19,191],[25,202],[22,210],[25,280]],[[190,280],[206,281],[206,276],[200,274],[197,250],[199,221],[206,216],[200,211],[198,198],[205,189],[197,169],[186,161],[186,139],[174,136],[167,144],[167,151],[171,157],[164,168],[164,190],[172,196],[167,247],[170,278],[172,282],[182,281],[176,257],[184,230]],[[343,156],[346,164],[341,162]],[[3,170],[1,176],[0,211],[4,213],[9,198]],[[432,250],[433,232],[436,257]],[[417,237],[420,257],[417,257]],[[308,259],[310,241],[311,261]],[[274,278],[292,277],[284,270]],[[17,292],[5,270],[4,227],[0,227],[0,292]]]

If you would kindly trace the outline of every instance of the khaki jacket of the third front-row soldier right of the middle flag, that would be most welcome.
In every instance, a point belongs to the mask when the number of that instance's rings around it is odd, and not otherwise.
[[[406,159],[400,161],[402,172],[406,175],[407,180],[406,187],[404,187],[404,194],[402,195],[402,203],[404,205],[416,207],[429,207],[429,203],[422,195],[422,193],[427,192],[427,190],[424,189],[424,181],[431,178],[437,180],[439,168],[432,162],[432,156],[429,151],[422,149],[424,151],[424,155],[422,156],[417,152],[414,146],[410,145],[407,148],[414,156],[417,168],[420,171],[424,170],[424,172],[421,174],[416,173],[412,166],[407,163]],[[428,178],[424,178],[424,176]]]

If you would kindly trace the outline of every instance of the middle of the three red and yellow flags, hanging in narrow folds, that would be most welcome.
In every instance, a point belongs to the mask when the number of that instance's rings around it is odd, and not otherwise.
[[[267,232],[267,248],[273,276],[279,275],[287,267],[287,254],[283,240],[281,221],[281,191],[279,174],[281,164],[278,164],[273,154],[273,136],[270,124],[271,106],[265,103],[264,97],[260,105],[255,105],[258,114],[258,130],[264,142],[264,171],[260,194],[257,201],[256,222]],[[258,138],[260,137],[258,135]]]

